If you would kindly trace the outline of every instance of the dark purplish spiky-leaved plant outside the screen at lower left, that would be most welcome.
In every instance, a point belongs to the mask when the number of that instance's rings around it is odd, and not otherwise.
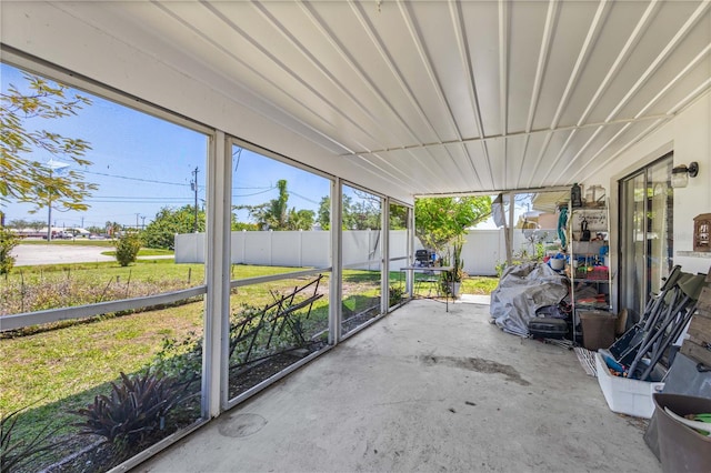
[[[109,396],[98,395],[93,404],[76,411],[86,417],[76,425],[82,427],[81,434],[103,436],[124,450],[164,429],[166,415],[184,399],[184,389],[172,378],[150,370],[133,376],[121,373],[121,381],[120,385],[111,383]]]

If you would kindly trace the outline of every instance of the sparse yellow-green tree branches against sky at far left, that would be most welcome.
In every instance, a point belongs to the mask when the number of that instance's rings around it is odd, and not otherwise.
[[[24,74],[26,91],[10,84],[0,93],[0,202],[16,199],[30,202],[39,210],[48,204],[64,210],[86,210],[83,201],[97,189],[84,181],[83,174],[74,170],[66,173],[52,172],[46,164],[33,159],[36,152],[51,155],[77,165],[91,162],[84,154],[91,149],[89,142],[62,137],[59,133],[33,129],[33,119],[61,119],[76,115],[78,110],[91,101],[74,93],[67,85]]]

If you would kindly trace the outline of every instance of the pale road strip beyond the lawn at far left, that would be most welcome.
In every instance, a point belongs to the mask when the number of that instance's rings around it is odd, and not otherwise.
[[[112,251],[107,246],[74,246],[66,244],[19,244],[12,250],[16,266],[36,264],[94,263],[116,261],[114,256],[101,254]],[[151,260],[173,256],[148,256]]]

